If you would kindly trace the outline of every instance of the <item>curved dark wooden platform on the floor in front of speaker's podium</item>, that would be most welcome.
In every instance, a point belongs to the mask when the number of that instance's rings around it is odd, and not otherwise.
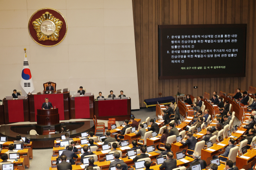
[[[37,124],[26,125],[2,125],[0,127],[0,136],[7,136],[8,141],[13,141],[16,135],[27,137],[33,142],[33,149],[46,149],[54,147],[54,140],[65,135],[65,133],[49,134],[50,132],[61,131],[61,126],[65,125],[69,129],[70,138],[80,136],[81,132],[94,131],[94,122],[91,121],[70,121],[52,126],[41,126]],[[36,130],[39,135],[28,135],[30,130]]]

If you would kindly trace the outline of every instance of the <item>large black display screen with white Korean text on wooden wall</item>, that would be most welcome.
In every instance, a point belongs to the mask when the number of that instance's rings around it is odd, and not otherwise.
[[[159,25],[159,79],[244,77],[246,24]]]

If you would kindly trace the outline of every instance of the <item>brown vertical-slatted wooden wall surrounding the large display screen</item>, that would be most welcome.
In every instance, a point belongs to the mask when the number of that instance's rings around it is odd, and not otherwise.
[[[254,0],[132,0],[132,7],[140,107],[148,98],[174,96],[177,86],[180,93],[192,96],[256,86]],[[223,23],[247,23],[246,77],[158,80],[158,25]]]

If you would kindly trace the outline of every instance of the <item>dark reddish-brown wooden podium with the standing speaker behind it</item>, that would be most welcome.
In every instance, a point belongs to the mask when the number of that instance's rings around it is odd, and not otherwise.
[[[60,123],[58,108],[56,109],[37,109],[37,125],[55,125]]]

